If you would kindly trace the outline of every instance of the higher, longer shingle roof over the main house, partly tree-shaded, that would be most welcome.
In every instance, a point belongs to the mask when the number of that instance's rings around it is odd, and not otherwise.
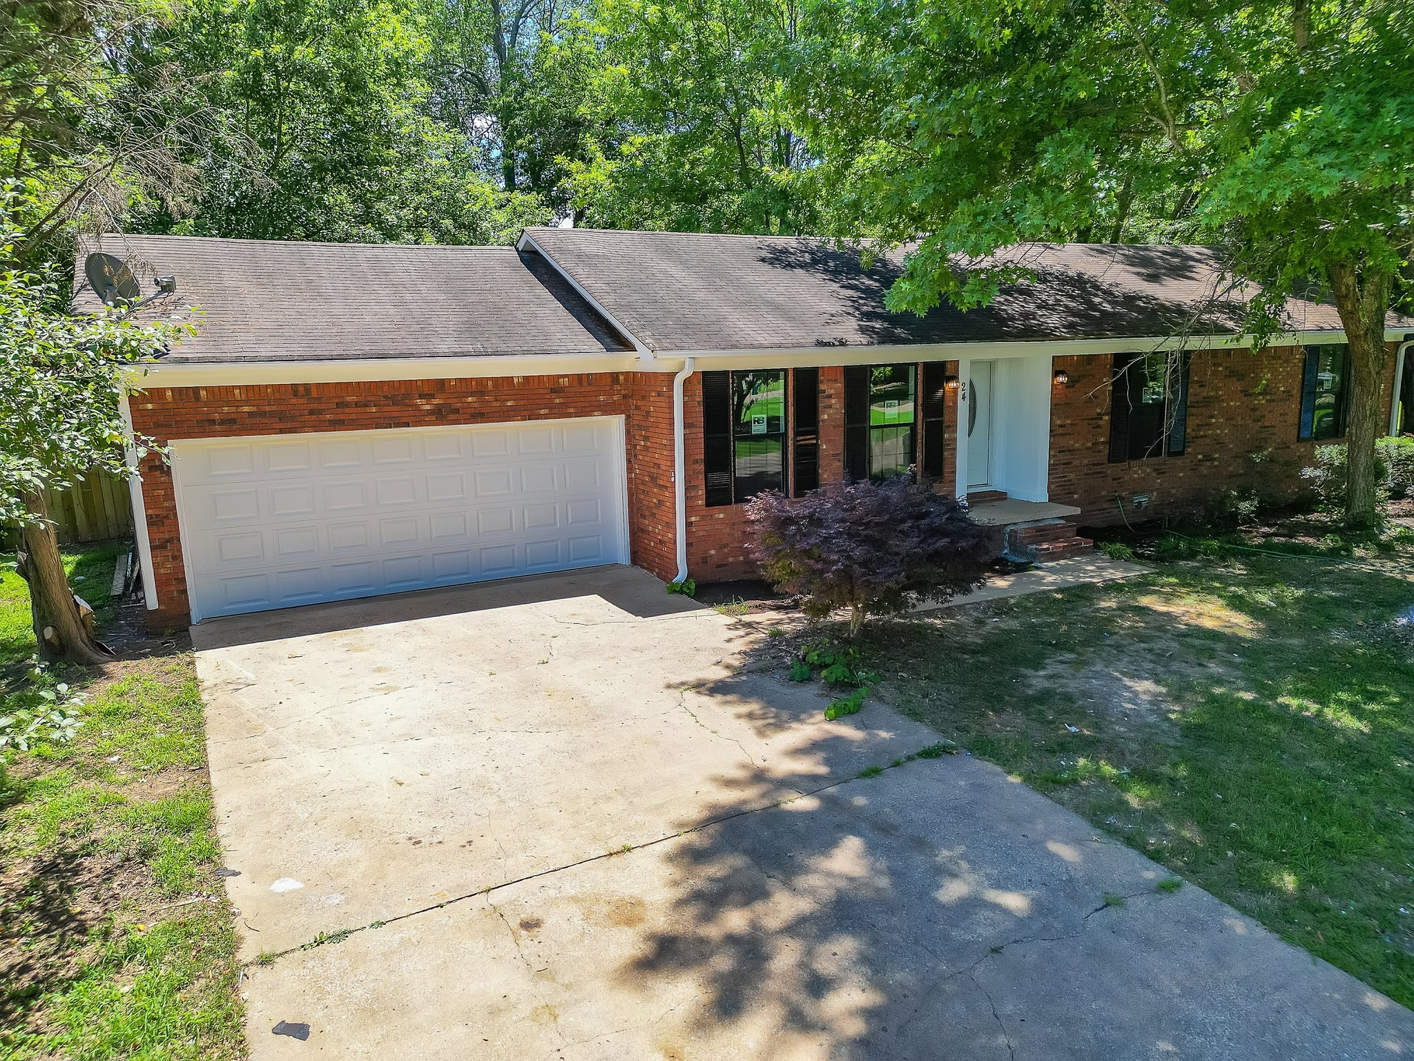
[[[1202,246],[1025,243],[998,255],[1031,267],[987,307],[889,313],[902,255],[860,266],[850,249],[805,236],[527,229],[585,291],[655,351],[858,347],[1233,334],[1243,301],[1215,300],[1219,267]],[[1290,300],[1292,331],[1338,331],[1332,306]]]

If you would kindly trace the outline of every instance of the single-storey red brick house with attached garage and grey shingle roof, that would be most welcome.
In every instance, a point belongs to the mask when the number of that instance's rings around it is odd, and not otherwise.
[[[805,238],[95,243],[174,277],[140,313],[198,325],[126,399],[170,447],[132,487],[154,625],[604,563],[749,577],[747,499],[902,472],[1044,559],[1295,494],[1345,430],[1333,307],[1291,300],[1253,349],[1202,248],[1021,246],[1034,279],[919,317],[884,306],[899,259]],[[1410,430],[1414,321],[1386,338]]]

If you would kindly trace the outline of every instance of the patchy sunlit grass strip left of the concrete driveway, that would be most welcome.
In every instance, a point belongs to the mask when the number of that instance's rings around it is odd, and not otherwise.
[[[100,624],[124,549],[65,556]],[[0,668],[34,652],[28,608],[0,574]],[[0,792],[0,1057],[243,1057],[191,654],[65,678],[83,727],[10,753]]]

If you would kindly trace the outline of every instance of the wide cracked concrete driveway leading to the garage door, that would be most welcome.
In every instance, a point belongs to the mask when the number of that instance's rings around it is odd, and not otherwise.
[[[621,567],[194,628],[252,1055],[1414,1053],[991,765],[857,777],[936,734],[751,637]]]

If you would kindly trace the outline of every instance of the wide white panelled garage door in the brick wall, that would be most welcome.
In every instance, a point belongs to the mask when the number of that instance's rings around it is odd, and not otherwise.
[[[192,620],[628,563],[618,417],[173,443]]]

